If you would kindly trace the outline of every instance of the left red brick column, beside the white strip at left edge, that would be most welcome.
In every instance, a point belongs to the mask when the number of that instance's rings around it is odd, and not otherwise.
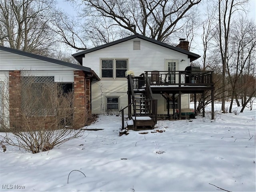
[[[20,71],[9,71],[9,110],[10,128],[17,128],[21,120],[21,86]]]

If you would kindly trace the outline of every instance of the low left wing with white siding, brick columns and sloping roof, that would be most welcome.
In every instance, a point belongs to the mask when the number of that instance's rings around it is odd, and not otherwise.
[[[28,77],[35,82],[33,87],[35,91],[46,82],[60,84],[63,90],[72,91],[74,118],[81,127],[84,126],[91,110],[90,82],[100,80],[91,68],[0,46],[0,95],[2,96],[0,122],[2,125],[5,123],[12,128],[14,120],[19,118],[19,114],[13,109],[21,106],[17,106],[14,99],[17,99],[17,96],[21,97],[24,82]],[[3,95],[8,99],[4,100]],[[7,108],[4,108],[4,105]],[[41,108],[44,116],[43,106]]]

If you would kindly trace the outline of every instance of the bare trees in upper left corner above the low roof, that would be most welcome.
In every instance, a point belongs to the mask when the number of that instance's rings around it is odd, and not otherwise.
[[[52,0],[0,0],[1,45],[46,55],[55,42],[54,8]]]

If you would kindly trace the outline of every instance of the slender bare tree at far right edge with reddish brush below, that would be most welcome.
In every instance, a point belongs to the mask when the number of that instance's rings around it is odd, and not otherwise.
[[[240,16],[230,31],[230,59],[227,63],[228,79],[232,87],[230,113],[232,112],[233,100],[236,99],[238,106],[240,106],[238,95],[244,94],[246,97],[247,90],[250,90],[247,84],[252,81],[251,77],[254,76],[255,63],[253,60],[255,58],[255,50],[256,25],[253,21],[247,20],[245,16]],[[241,81],[242,84],[240,83]],[[250,86],[252,87],[251,84]],[[244,100],[246,101],[247,98]],[[242,105],[244,106],[243,103]]]

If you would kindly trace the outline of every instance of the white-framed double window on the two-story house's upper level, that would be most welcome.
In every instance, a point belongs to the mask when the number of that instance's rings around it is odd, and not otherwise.
[[[101,77],[102,78],[125,78],[128,67],[127,59],[102,59]]]

